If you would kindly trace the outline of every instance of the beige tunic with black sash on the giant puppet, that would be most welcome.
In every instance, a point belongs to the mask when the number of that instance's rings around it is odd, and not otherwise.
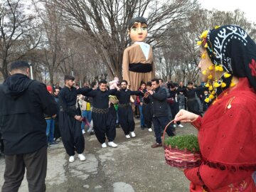
[[[122,78],[123,80],[127,80],[129,90],[138,90],[142,81],[151,81],[155,75],[152,47],[150,46],[149,53],[146,55],[146,58],[145,53],[141,48],[141,43],[142,42],[134,43],[132,46],[129,46],[124,50],[122,60]]]

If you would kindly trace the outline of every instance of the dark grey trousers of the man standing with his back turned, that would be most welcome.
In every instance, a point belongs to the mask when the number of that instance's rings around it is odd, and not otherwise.
[[[2,192],[16,192],[24,177],[28,180],[29,192],[46,191],[47,147],[29,154],[6,155],[4,185]]]

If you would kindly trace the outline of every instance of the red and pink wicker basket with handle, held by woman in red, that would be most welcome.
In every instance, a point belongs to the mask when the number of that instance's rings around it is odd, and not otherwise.
[[[171,124],[172,122],[173,121],[169,122],[169,124]],[[163,141],[166,129],[169,124],[167,124],[164,129]],[[201,154],[199,151],[191,152],[187,151],[186,149],[177,149],[175,146],[165,145],[164,156],[166,159],[166,164],[169,164],[170,166],[174,166],[176,168],[188,169],[201,165]]]

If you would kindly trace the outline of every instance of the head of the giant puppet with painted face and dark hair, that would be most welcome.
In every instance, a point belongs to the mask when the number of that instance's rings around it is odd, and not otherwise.
[[[129,21],[128,34],[132,39],[132,42],[145,41],[147,36],[146,19],[142,16],[132,18]]]

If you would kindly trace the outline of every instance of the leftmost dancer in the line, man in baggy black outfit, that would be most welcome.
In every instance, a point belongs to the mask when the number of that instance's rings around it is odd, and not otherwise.
[[[75,78],[65,75],[65,87],[58,95],[60,102],[59,127],[60,134],[67,154],[70,156],[70,163],[75,161],[75,151],[78,152],[80,161],[85,161],[82,152],[85,150],[85,139],[81,131],[81,110],[78,105],[77,95],[85,95],[92,89],[73,87]]]

